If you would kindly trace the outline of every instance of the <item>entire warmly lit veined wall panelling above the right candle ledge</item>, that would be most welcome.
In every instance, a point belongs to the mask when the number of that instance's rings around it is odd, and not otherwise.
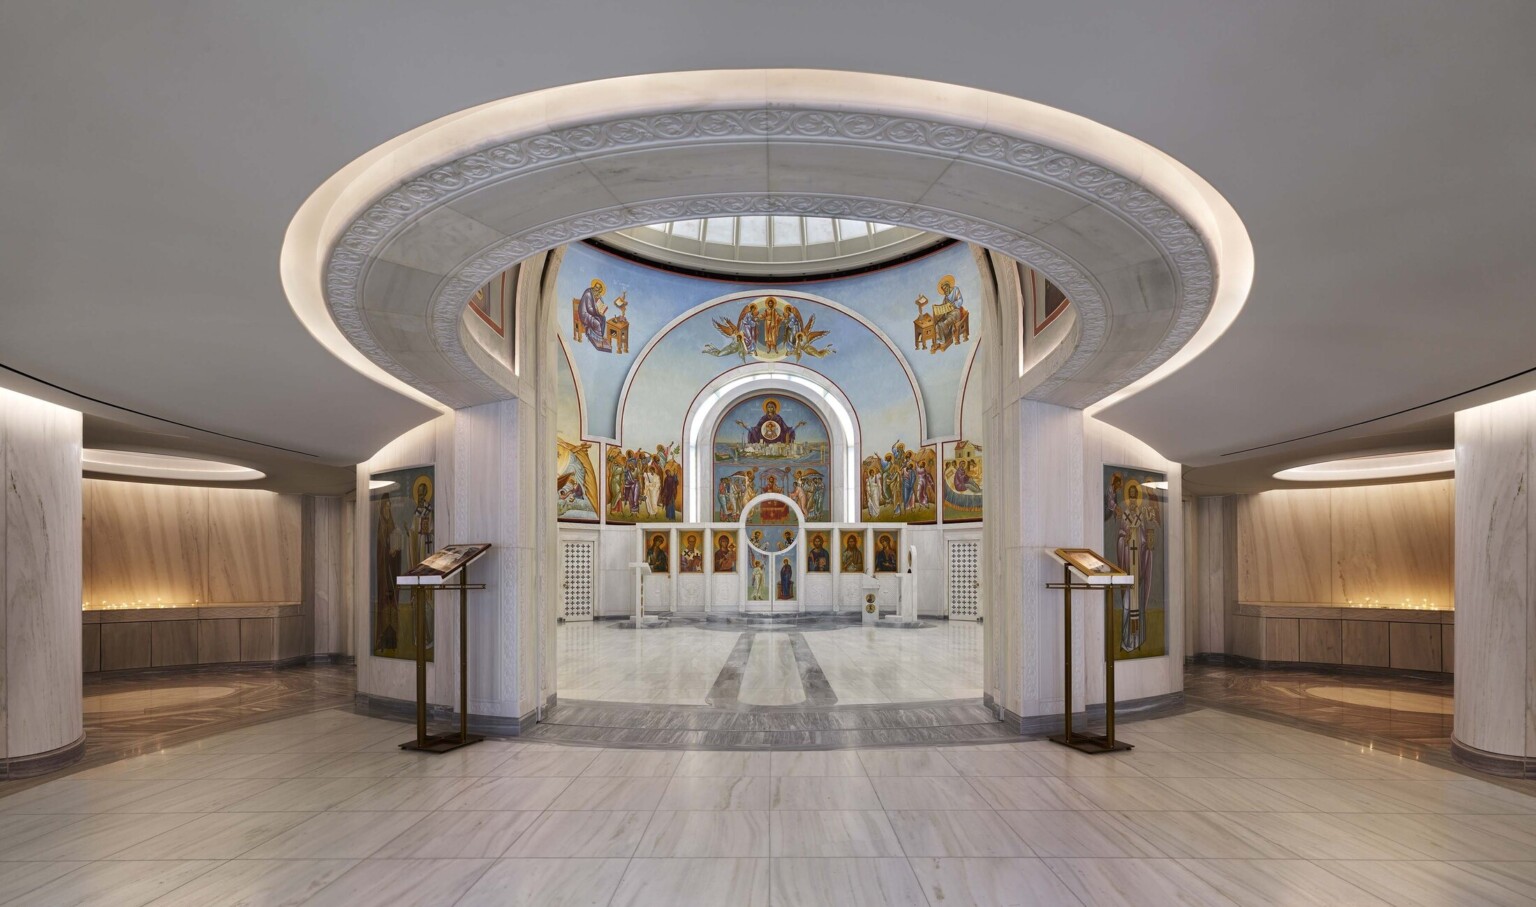
[[[1238,600],[1450,604],[1453,480],[1238,498]]]

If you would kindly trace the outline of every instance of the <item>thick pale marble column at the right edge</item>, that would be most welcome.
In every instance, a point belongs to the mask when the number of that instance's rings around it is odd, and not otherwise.
[[[1456,414],[1456,721],[1452,753],[1536,778],[1536,394]]]

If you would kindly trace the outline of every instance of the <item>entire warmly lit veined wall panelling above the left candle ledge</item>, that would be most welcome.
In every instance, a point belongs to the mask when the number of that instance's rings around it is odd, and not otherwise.
[[[92,604],[300,601],[301,498],[84,480],[81,596]]]

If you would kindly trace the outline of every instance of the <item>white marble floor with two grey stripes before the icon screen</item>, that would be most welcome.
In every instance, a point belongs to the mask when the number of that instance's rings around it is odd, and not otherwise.
[[[805,630],[688,623],[561,624],[561,701],[716,707],[871,706],[982,698],[982,624]]]

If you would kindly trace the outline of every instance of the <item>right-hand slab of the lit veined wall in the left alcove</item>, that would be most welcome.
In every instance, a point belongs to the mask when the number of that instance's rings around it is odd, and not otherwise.
[[[217,489],[207,515],[209,601],[300,601],[296,495]]]

